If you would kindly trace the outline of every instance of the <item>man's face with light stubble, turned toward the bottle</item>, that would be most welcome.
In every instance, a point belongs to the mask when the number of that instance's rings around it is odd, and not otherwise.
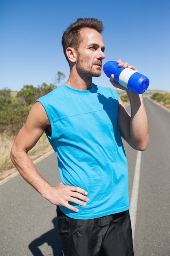
[[[77,51],[77,73],[80,76],[100,76],[105,58],[103,38],[95,29],[84,28],[80,33],[83,39]]]

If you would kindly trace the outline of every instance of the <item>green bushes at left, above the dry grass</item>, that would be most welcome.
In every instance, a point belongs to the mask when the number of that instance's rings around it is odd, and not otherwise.
[[[0,90],[0,132],[7,131],[10,135],[16,135],[36,100],[54,90],[64,77],[62,72],[58,72],[55,84],[42,83],[38,87],[24,85],[16,97],[11,96],[10,89]]]

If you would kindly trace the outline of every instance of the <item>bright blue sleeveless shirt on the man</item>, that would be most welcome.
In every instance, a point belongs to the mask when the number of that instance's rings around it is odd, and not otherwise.
[[[38,101],[51,124],[46,135],[57,154],[61,181],[88,192],[86,207],[72,202],[69,217],[92,219],[129,208],[128,165],[119,132],[119,97],[93,84],[87,91],[62,85]]]

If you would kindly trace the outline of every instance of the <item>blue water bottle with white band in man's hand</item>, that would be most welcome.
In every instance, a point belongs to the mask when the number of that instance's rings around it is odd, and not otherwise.
[[[131,68],[118,67],[117,61],[108,61],[103,66],[109,78],[114,74],[117,83],[137,94],[144,93],[149,86],[149,79]]]

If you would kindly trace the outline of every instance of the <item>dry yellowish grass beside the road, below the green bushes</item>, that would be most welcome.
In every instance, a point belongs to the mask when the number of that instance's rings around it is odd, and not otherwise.
[[[14,136],[9,136],[5,132],[0,133],[0,173],[14,167],[9,157],[14,139]],[[43,133],[38,143],[29,151],[29,155],[34,155],[47,148],[49,145],[49,141],[46,138],[45,133]]]

